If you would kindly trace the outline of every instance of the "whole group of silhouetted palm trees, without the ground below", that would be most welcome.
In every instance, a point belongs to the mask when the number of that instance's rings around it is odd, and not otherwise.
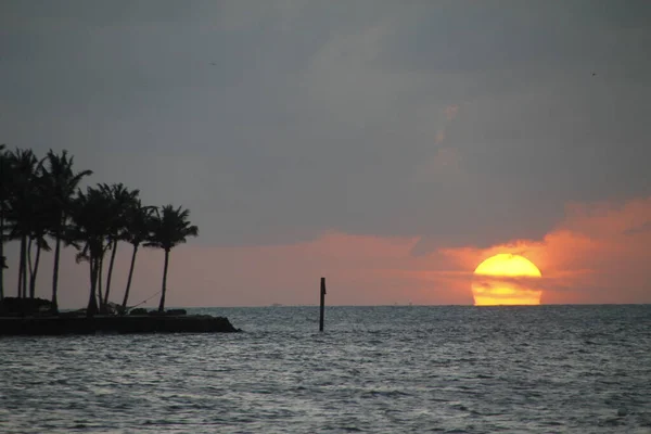
[[[171,205],[158,209],[143,206],[138,190],[124,184],[99,184],[86,191],[79,183],[92,174],[75,173],[74,157],[66,151],[50,150],[39,161],[31,150],[10,152],[0,144],[0,299],[5,295],[3,269],[7,268],[4,242],[20,241],[18,297],[34,297],[41,252],[48,251],[47,237],[55,241],[52,275],[52,304],[58,308],[61,243],[79,250],[77,261],[88,260],[90,291],[88,315],[92,316],[108,303],[117,244],[127,241],[133,246],[129,277],[123,301],[126,309],[140,245],[165,251],[159,311],[165,309],[167,271],[171,248],[199,233],[188,221],[189,210]],[[155,213],[155,215],[154,215]],[[106,292],[102,294],[102,264],[106,251],[111,259]],[[29,280],[28,280],[29,279]],[[98,294],[99,293],[99,294]],[[98,297],[99,295],[99,297]]]

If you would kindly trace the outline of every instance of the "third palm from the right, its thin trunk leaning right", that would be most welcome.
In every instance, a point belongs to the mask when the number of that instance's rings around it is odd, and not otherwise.
[[[117,243],[125,239],[126,232],[126,210],[130,204],[136,201],[140,190],[128,190],[122,182],[112,186],[100,184],[100,190],[106,196],[108,205],[112,208],[112,219],[107,228],[107,247],[111,248],[111,259],[108,261],[108,271],[106,273],[106,288],[104,289],[104,298],[100,302],[100,310],[104,311],[108,304],[111,294],[111,278],[113,277],[113,265],[115,254],[117,253]]]

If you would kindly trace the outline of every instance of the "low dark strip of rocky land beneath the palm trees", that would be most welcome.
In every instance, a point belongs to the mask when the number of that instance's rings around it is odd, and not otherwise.
[[[228,318],[208,315],[0,317],[0,336],[132,333],[232,333]]]

